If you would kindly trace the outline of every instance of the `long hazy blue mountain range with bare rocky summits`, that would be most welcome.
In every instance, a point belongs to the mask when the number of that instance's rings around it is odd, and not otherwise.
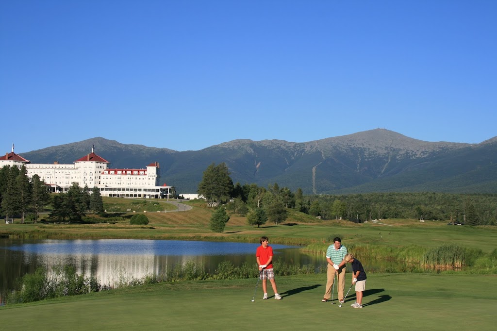
[[[161,184],[180,194],[196,193],[207,166],[221,162],[234,183],[278,183],[305,194],[497,193],[497,137],[479,144],[426,142],[374,129],[305,143],[240,139],[181,152],[96,137],[20,155],[31,163],[72,164],[92,146],[112,168],[159,162]]]

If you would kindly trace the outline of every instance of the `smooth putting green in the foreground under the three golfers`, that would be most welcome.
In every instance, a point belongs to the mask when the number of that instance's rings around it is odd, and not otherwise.
[[[350,277],[347,277],[345,291]],[[497,277],[371,274],[362,309],[322,303],[326,275],[163,283],[0,308],[1,330],[495,330]],[[269,287],[269,295],[272,291]],[[334,296],[336,298],[336,296]],[[336,302],[336,301],[335,301]]]

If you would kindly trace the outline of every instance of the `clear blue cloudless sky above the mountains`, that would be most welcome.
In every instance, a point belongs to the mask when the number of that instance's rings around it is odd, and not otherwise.
[[[480,143],[496,17],[495,0],[1,0],[0,152],[376,128]]]

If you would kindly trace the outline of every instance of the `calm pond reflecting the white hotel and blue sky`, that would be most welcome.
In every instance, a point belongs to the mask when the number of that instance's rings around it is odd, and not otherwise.
[[[167,241],[167,240],[11,240],[0,239],[1,294],[12,290],[16,278],[39,266],[73,265],[78,274],[94,276],[102,285],[113,286],[119,277],[141,278],[164,274],[178,263],[193,261],[213,273],[229,260],[235,266],[254,264],[259,244]],[[271,245],[275,258],[300,265],[315,263],[316,257],[301,254],[299,248]],[[322,258],[319,258],[323,260]],[[326,263],[326,261],[324,262]],[[1,295],[3,296],[3,295]]]

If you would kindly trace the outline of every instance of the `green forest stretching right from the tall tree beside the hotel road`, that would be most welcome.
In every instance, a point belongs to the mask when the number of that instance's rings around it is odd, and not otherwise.
[[[233,184],[228,166],[209,165],[198,186],[210,206],[247,216],[248,224],[282,223],[288,209],[323,220],[346,219],[356,223],[387,218],[448,220],[453,224],[496,225],[497,194],[365,193],[308,195],[292,192],[277,183],[267,188],[256,184]]]

